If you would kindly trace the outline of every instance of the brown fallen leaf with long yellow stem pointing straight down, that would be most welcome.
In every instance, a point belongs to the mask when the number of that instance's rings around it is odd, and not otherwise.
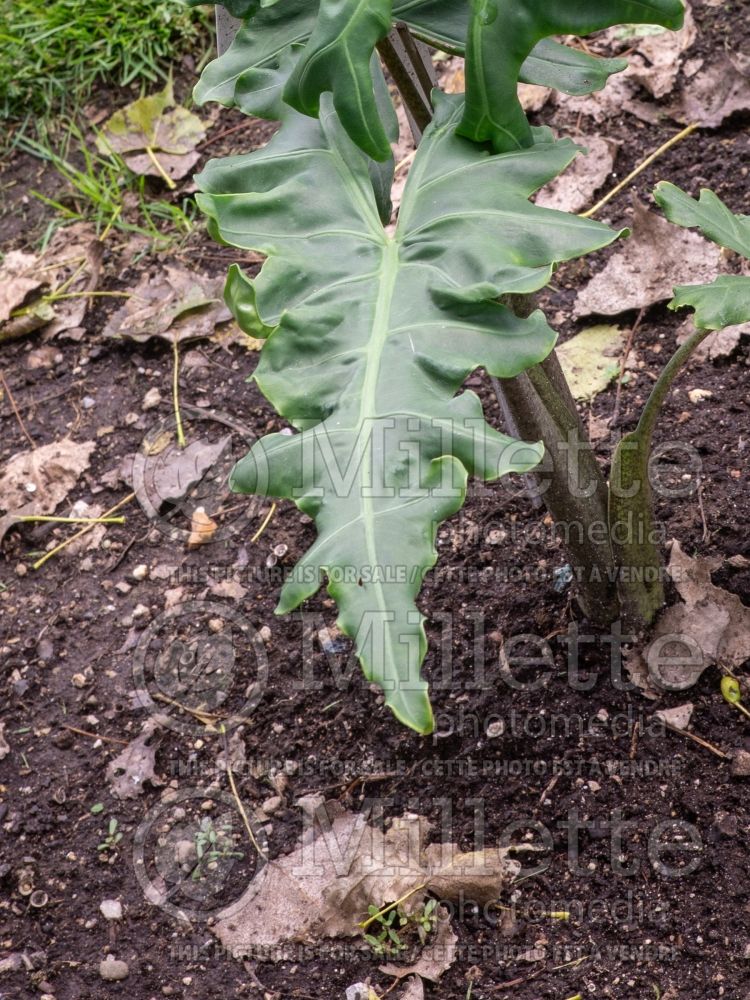
[[[109,337],[142,344],[152,337],[173,343],[210,337],[231,313],[224,305],[221,278],[208,278],[168,265],[144,274],[104,328]]]

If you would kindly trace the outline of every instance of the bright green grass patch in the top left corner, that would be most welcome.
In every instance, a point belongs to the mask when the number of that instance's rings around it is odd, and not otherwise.
[[[0,117],[71,112],[100,81],[166,79],[208,37],[181,0],[0,0]]]

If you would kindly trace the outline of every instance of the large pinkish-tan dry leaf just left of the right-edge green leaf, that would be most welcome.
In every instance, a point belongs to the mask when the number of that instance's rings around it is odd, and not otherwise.
[[[667,222],[637,199],[632,235],[578,293],[576,316],[616,316],[671,299],[675,285],[713,281],[721,249],[702,236]]]

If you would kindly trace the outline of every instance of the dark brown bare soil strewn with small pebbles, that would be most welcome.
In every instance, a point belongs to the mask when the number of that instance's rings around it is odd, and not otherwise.
[[[719,48],[727,36],[738,44],[729,6],[697,6],[706,31],[702,45]],[[731,6],[736,17],[743,5]],[[740,27],[747,38],[747,25]],[[211,136],[242,121],[222,113]],[[624,116],[604,131],[622,142],[618,175],[623,176],[664,141],[671,126],[644,126]],[[267,135],[265,125],[223,134],[206,152],[245,148]],[[749,158],[746,122],[735,119],[677,146],[634,187],[645,198],[657,179],[692,190],[700,178],[732,208],[747,211]],[[7,169],[17,178],[25,174],[33,186],[25,161]],[[33,232],[18,226],[19,204],[14,196],[7,245],[29,241],[44,227],[41,216],[25,220],[36,226]],[[619,222],[627,208],[623,195],[607,214]],[[182,255],[183,262],[214,273],[232,259],[203,234]],[[103,287],[133,284],[147,264],[128,268],[113,248]],[[550,315],[566,309],[572,289],[600,266],[594,259],[558,276],[559,291],[549,293]],[[5,377],[37,444],[66,435],[97,442],[71,500],[93,500],[105,508],[130,492],[113,470],[171,413],[168,346],[135,347],[103,338],[112,308],[100,304],[90,311],[84,341],[57,342],[61,359],[51,368],[27,367],[29,352],[38,346],[34,338],[2,348]],[[635,349],[644,365],[623,387],[621,429],[634,426],[653,374],[674,347],[679,323],[666,308],[655,308],[640,326]],[[572,323],[562,325],[564,335],[574,329]],[[255,355],[213,342],[196,350],[206,363],[184,366],[181,379],[186,412],[195,408],[192,427],[201,424],[196,413],[207,426],[211,418],[218,421],[208,432],[214,437],[227,421],[249,437],[283,426],[246,381]],[[691,365],[682,375],[666,404],[660,440],[687,442],[697,450],[702,505],[693,493],[660,501],[657,514],[665,538],[679,539],[690,553],[717,557],[722,568],[716,582],[750,606],[750,572],[739,561],[727,562],[732,556],[750,558],[748,366],[745,341],[732,357]],[[499,424],[484,377],[473,376],[470,385]],[[144,414],[141,402],[152,387],[161,390],[163,401]],[[713,395],[699,406],[689,404],[686,392],[693,387]],[[83,405],[86,397],[93,406]],[[609,417],[614,399],[614,388],[599,395],[595,416]],[[125,419],[130,413],[138,415],[137,422]],[[0,456],[6,461],[27,442],[7,395],[0,415]],[[102,428],[106,432],[98,436]],[[605,463],[611,447],[606,441],[601,445]],[[684,472],[673,468],[673,478]],[[378,971],[382,960],[346,943],[338,954],[301,954],[279,963],[243,963],[223,954],[211,934],[211,914],[245,889],[253,872],[248,852],[227,866],[218,890],[210,877],[195,883],[192,896],[189,880],[177,886],[174,900],[192,914],[187,921],[146,898],[141,876],[146,870],[156,881],[154,845],[170,810],[179,805],[187,822],[233,808],[219,761],[225,743],[199,720],[177,712],[172,718],[180,724],[162,731],[155,779],[144,784],[142,794],[116,798],[105,771],[151,714],[134,695],[144,683],[139,651],[154,636],[157,646],[177,639],[189,646],[201,630],[209,634],[208,622],[222,615],[240,622],[224,703],[248,716],[240,729],[246,764],[237,767],[238,791],[250,809],[279,790],[283,798],[268,832],[271,857],[295,843],[302,830],[296,802],[316,792],[355,810],[382,801],[390,816],[423,813],[433,822],[433,839],[457,841],[467,850],[477,846],[479,834],[488,844],[510,835],[514,843],[544,847],[531,855],[538,873],[501,901],[510,912],[480,912],[467,902],[456,915],[458,958],[439,985],[426,984],[426,996],[750,997],[748,779],[733,778],[727,760],[665,731],[653,713],[689,698],[695,705],[692,730],[724,751],[750,750],[747,722],[721,698],[713,669],[687,694],[647,701],[627,683],[618,644],[588,630],[585,622],[579,623],[586,636],[581,673],[569,673],[569,628],[576,611],[569,590],[555,588],[565,555],[544,512],[531,509],[521,483],[475,486],[462,513],[441,529],[442,559],[420,599],[431,643],[425,674],[432,680],[438,720],[436,734],[428,738],[403,729],[358,671],[347,677],[348,644],[334,640],[333,652],[326,653],[319,639],[313,640],[313,633],[332,627],[336,617],[324,593],[302,614],[274,617],[280,572],[310,544],[310,524],[290,503],[281,503],[253,542],[269,506],[256,504],[247,516],[244,506],[237,510],[222,520],[213,544],[195,550],[186,549],[182,535],[170,537],[163,522],[147,518],[137,501],[123,509],[127,523],[109,528],[98,547],[62,552],[39,571],[31,564],[52,539],[66,537],[67,529],[27,527],[2,543],[0,691],[10,753],[0,762],[0,963],[23,952],[28,967],[2,971],[0,964],[0,997],[327,1000],[343,998],[348,986],[368,978],[378,995],[392,983]],[[174,525],[184,529],[185,521],[177,517]],[[274,555],[281,545],[286,553]],[[151,574],[137,582],[132,573],[141,564]],[[154,573],[158,567],[163,573]],[[223,579],[235,576],[246,589],[243,598],[213,593]],[[127,592],[118,589],[122,583],[129,585]],[[168,620],[168,631],[159,638],[166,591],[176,588],[182,592],[172,597],[198,603],[183,620]],[[252,629],[264,626],[270,637],[249,638]],[[538,642],[545,639],[554,667],[541,685],[532,683],[542,676],[538,666],[518,672],[521,683],[514,689],[501,671],[499,644],[520,635],[537,637],[527,639],[530,655],[538,655]],[[258,666],[261,648],[265,682]],[[152,680],[145,677],[147,686]],[[248,707],[247,688],[254,681],[260,700]],[[213,807],[204,808],[207,800]],[[103,808],[97,811],[97,805]],[[111,818],[122,839],[99,850]],[[509,829],[510,824],[515,825]],[[542,827],[548,840],[542,840]],[[670,843],[677,848],[667,850]],[[688,850],[680,851],[686,844]],[[528,865],[529,855],[520,856]],[[31,905],[24,894],[29,886],[46,894],[46,905]],[[122,902],[121,920],[103,918],[104,899]],[[550,916],[558,911],[568,911],[570,919]],[[100,978],[99,962],[108,953],[129,964],[125,981]]]

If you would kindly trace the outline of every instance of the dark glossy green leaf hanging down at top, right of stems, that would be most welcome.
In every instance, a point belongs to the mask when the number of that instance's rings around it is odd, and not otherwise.
[[[551,35],[586,35],[615,24],[682,25],[681,0],[471,0],[466,42],[466,112],[459,126],[475,142],[506,152],[533,142],[518,100],[521,67]]]

